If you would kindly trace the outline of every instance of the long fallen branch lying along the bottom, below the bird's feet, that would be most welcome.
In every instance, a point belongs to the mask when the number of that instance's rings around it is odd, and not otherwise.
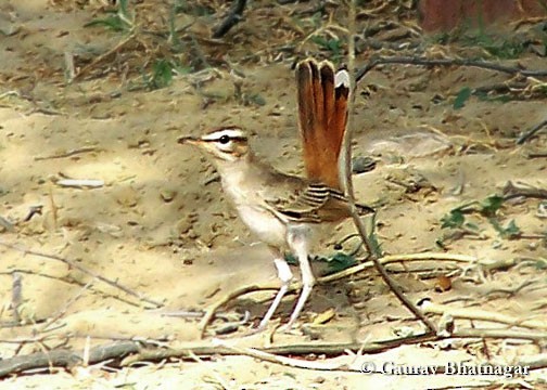
[[[300,343],[269,347],[264,349],[250,349],[228,344],[218,341],[207,342],[206,344],[196,344],[190,342],[187,346],[178,348],[164,348],[165,342],[154,342],[153,340],[123,340],[109,344],[91,348],[88,352],[88,364],[97,364],[112,360],[109,366],[124,367],[138,364],[139,362],[157,362],[166,359],[185,359],[195,361],[195,356],[217,356],[217,355],[250,355],[256,359],[268,361],[276,364],[288,365],[292,367],[306,369],[338,369],[356,370],[351,364],[309,364],[308,361],[298,361],[295,359],[282,359],[284,355],[306,356],[309,354],[322,354],[327,356],[339,356],[348,354],[349,351],[357,351],[357,354],[373,354],[384,352],[400,346],[416,344],[421,342],[435,342],[449,339],[516,339],[529,340],[532,342],[546,342],[547,333],[544,332],[516,332],[510,329],[478,329],[462,328],[450,335],[418,335],[395,339],[386,339],[374,342],[347,342],[347,343]],[[355,356],[352,356],[355,360]],[[523,362],[527,360],[521,358]],[[0,360],[0,378],[30,369],[48,369],[51,367],[73,367],[84,363],[84,352],[68,350],[54,350],[49,352],[38,352],[28,355],[21,355]],[[530,364],[531,369],[544,368],[547,366],[545,359],[534,360]]]

